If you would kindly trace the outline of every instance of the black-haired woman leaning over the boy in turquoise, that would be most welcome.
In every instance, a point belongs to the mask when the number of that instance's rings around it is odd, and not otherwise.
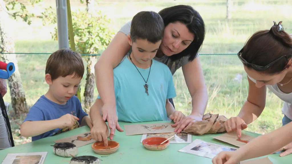
[[[182,67],[192,97],[192,113],[182,120],[180,116],[171,118],[175,122],[173,125],[176,127],[175,131],[180,132],[194,121],[202,120],[208,102],[207,88],[198,55],[205,38],[205,25],[201,15],[191,6],[172,6],[164,8],[159,14],[164,20],[165,29],[162,43],[154,59],[166,64],[172,74]],[[127,41],[130,27],[131,21],[121,27],[95,64],[96,87],[104,103],[102,118],[109,123],[110,139],[115,129],[122,131],[117,123],[113,69],[131,51]],[[172,99],[169,101],[173,104]]]

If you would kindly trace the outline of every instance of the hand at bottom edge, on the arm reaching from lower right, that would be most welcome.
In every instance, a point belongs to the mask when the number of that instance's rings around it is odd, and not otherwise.
[[[213,164],[236,164],[240,161],[236,151],[221,151],[212,159]]]

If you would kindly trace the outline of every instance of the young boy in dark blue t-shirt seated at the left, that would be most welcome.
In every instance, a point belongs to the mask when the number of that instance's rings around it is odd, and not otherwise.
[[[75,96],[84,74],[81,55],[72,50],[57,50],[48,58],[45,74],[48,92],[29,109],[20,134],[35,141],[80,125],[92,128],[90,117]]]

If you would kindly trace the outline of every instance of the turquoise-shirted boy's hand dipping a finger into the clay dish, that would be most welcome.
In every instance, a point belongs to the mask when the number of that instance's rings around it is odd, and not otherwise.
[[[109,137],[109,130],[107,124],[104,121],[97,121],[94,123],[93,128],[90,130],[91,138],[96,141],[104,141],[105,146],[107,146],[107,137]]]

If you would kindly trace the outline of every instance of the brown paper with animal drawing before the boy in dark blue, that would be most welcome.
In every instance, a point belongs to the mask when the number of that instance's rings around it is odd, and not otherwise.
[[[58,142],[71,142],[76,145],[76,147],[84,146],[87,144],[91,144],[93,142],[96,142],[94,139],[91,139],[90,131],[80,133],[78,135],[74,135],[71,137],[63,138],[63,139],[58,139],[54,141],[55,143]]]

